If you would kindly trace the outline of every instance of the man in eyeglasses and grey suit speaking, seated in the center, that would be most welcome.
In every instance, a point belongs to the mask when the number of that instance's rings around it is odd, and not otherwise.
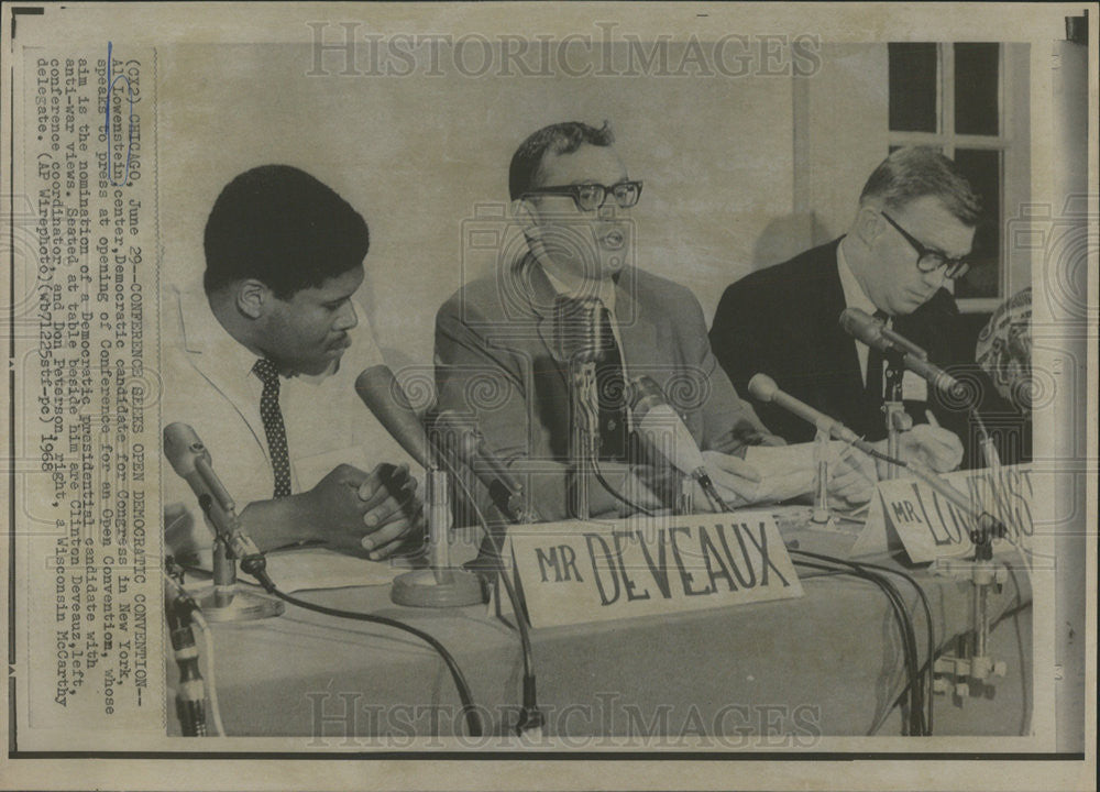
[[[626,502],[668,505],[658,494],[668,492],[662,466],[638,464],[646,455],[630,431],[625,384],[642,375],[683,415],[729,502],[776,496],[743,457],[749,446],[780,441],[738,398],[711,353],[698,301],[689,289],[632,266],[629,210],[642,184],[630,178],[606,124],[560,123],[530,135],[513,156],[509,191],[525,250],[509,256],[502,244],[494,272],[440,308],[440,407],[476,419],[488,448],[528,481],[544,518],[569,517],[569,364],[556,322],[570,300],[595,299],[603,338],[597,455],[609,486],[590,483],[591,514],[629,513]],[[866,499],[866,472],[838,465],[833,492]]]

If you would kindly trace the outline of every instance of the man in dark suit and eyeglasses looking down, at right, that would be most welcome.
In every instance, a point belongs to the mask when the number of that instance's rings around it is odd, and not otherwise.
[[[763,372],[867,439],[884,438],[882,356],[845,333],[840,312],[859,308],[878,317],[937,365],[966,360],[946,287],[968,270],[978,218],[978,200],[950,160],[931,148],[895,151],[867,180],[847,234],[726,289],[711,328],[715,356],[736,387]],[[916,426],[909,440],[920,441],[934,468],[957,466],[965,411],[912,373],[902,384],[917,425],[931,415],[947,428]],[[773,405],[759,410],[788,441],[814,436],[812,426]]]

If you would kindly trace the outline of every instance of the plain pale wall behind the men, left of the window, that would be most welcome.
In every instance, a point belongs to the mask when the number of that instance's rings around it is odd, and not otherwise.
[[[198,282],[206,216],[230,178],[297,165],[367,219],[359,296],[394,365],[431,360],[436,308],[464,275],[463,221],[506,201],[513,151],[547,123],[612,122],[631,176],[645,180],[638,264],[693,288],[708,317],[727,284],[809,241],[804,223],[795,237],[784,224],[790,76],[318,77],[306,74],[302,45],[162,52],[158,123],[173,141],[160,166],[173,186],[161,195],[164,279]]]

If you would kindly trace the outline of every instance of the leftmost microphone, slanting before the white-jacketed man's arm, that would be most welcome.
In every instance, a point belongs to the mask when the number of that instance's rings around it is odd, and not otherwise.
[[[164,455],[172,469],[187,482],[218,534],[233,556],[243,561],[263,560],[260,548],[238,525],[237,506],[229,491],[213,472],[210,452],[187,424],[169,424],[164,428]],[[251,564],[255,565],[255,564]],[[261,565],[262,568],[262,565]],[[249,570],[251,572],[251,570]]]

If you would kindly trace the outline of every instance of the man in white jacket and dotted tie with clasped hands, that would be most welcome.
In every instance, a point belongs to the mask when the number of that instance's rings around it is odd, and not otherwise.
[[[422,535],[408,458],[354,391],[382,362],[352,301],[367,246],[330,188],[254,168],[210,213],[204,292],[166,300],[162,421],[195,429],[262,550],[322,542],[381,560]],[[168,547],[201,554],[210,534],[170,468],[164,503]]]

